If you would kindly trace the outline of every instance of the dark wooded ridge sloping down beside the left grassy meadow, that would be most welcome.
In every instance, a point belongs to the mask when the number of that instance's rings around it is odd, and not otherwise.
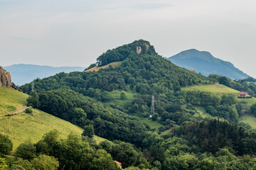
[[[109,140],[123,140],[139,145],[146,132],[138,118],[104,106],[99,101],[71,90],[41,92],[41,111],[45,111],[84,128],[93,125],[95,134]]]

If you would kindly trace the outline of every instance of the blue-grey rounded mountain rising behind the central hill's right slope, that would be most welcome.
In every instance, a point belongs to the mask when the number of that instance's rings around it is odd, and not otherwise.
[[[185,50],[172,57],[167,58],[174,64],[201,73],[205,76],[218,74],[230,79],[245,79],[247,74],[236,68],[231,62],[225,62],[213,57],[210,52],[198,51],[196,49]]]

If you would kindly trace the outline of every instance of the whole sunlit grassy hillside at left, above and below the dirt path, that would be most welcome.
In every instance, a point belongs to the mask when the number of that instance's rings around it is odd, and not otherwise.
[[[4,87],[0,87],[0,94],[0,111],[2,115],[25,106],[26,98],[28,98],[27,94]],[[17,115],[0,117],[0,133],[9,135],[12,142],[14,142],[14,149],[22,142],[37,142],[41,140],[46,132],[54,129],[60,132],[60,138],[63,139],[70,132],[77,135],[82,134],[82,129],[78,128],[78,126],[37,109],[34,109],[32,114],[18,113]],[[105,139],[95,136],[95,140],[98,143]]]

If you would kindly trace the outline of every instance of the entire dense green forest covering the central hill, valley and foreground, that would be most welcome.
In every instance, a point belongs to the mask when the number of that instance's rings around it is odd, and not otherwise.
[[[28,106],[68,120],[84,132],[70,134],[66,140],[60,140],[56,131],[49,132],[39,142],[21,144],[15,152],[16,162],[0,159],[0,164],[6,169],[22,165],[27,170],[38,169],[41,162],[51,162],[52,168],[45,169],[119,169],[116,160],[128,170],[256,169],[256,131],[238,124],[242,108],[235,97],[181,91],[183,86],[197,84],[219,82],[245,88],[245,83],[189,72],[165,60],[144,40],[108,50],[87,69],[111,62],[122,64],[99,72],[36,79],[35,91],[31,91],[32,83],[20,86],[30,94]],[[132,97],[124,105],[113,104],[113,91],[121,92],[120,101],[127,94]],[[142,122],[142,118],[149,119],[152,96],[150,120],[161,124],[158,132]],[[195,116],[196,106],[206,108],[213,118]],[[256,115],[256,106],[253,111]],[[94,134],[107,140],[97,145]],[[6,136],[1,138],[9,141]],[[0,152],[8,154],[10,147],[0,146]]]

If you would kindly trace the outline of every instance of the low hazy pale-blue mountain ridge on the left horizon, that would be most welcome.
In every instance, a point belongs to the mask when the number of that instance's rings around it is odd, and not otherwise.
[[[8,67],[4,67],[6,71],[11,73],[11,79],[14,84],[21,86],[34,79],[50,77],[60,72],[82,72],[84,67],[50,67],[34,64],[14,64]]]

